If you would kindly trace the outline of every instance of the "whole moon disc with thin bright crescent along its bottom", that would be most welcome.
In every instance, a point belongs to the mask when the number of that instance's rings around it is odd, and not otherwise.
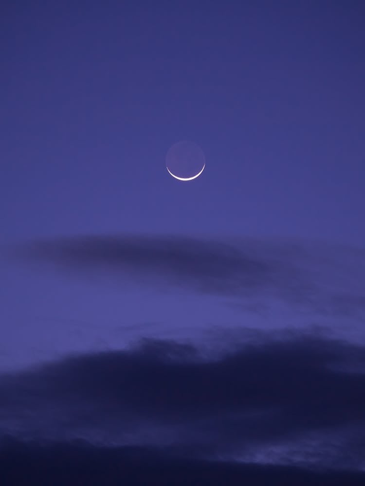
[[[192,181],[205,169],[205,156],[195,142],[183,140],[172,145],[166,154],[167,172],[179,181]]]

